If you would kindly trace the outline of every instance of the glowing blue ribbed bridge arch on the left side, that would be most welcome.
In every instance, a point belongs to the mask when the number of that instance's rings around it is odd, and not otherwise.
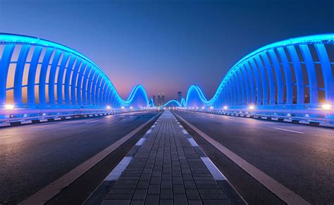
[[[120,108],[147,106],[144,88],[123,100],[104,72],[78,51],[36,37],[0,34],[0,106]]]

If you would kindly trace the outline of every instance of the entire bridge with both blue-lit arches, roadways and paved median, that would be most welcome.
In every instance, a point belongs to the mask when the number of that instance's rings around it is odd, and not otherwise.
[[[333,203],[333,44],[269,44],[211,99],[155,106],[78,51],[0,34],[0,204]]]

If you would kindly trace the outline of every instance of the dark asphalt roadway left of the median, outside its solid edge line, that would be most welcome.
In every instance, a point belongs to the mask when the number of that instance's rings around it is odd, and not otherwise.
[[[127,135],[156,112],[0,129],[0,204],[16,204]]]

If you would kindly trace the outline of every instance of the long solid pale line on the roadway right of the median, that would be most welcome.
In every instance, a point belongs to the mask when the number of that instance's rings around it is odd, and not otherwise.
[[[286,204],[310,204],[308,201],[306,201],[302,197],[299,197],[299,195],[295,194],[295,192],[292,192],[291,190],[287,189],[287,187],[281,185],[279,182],[269,177],[258,168],[252,166],[252,164],[248,163],[240,156],[237,156],[237,154],[233,153],[233,151],[230,151],[230,149],[227,149],[221,143],[217,142],[216,140],[209,137],[209,135],[206,135],[204,132],[194,127],[194,125],[190,124],[187,120],[183,119],[178,114],[176,113],[174,114],[175,116],[178,116],[180,120],[183,120],[183,122],[186,123],[190,128],[192,128],[192,130],[194,130],[204,139],[206,139],[206,141],[210,142],[210,144],[216,147],[216,149],[221,151],[221,153],[223,153],[230,160],[236,163],[237,166],[245,170],[255,180],[264,185],[264,187],[266,187],[268,190],[276,194],[276,196],[282,199]]]

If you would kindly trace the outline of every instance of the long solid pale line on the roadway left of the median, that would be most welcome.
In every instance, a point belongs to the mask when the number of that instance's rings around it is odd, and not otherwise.
[[[56,196],[56,194],[61,192],[61,190],[68,187],[68,185],[70,185],[75,180],[80,178],[80,176],[86,173],[87,170],[94,167],[97,163],[99,163],[99,161],[104,159],[106,156],[111,154],[111,152],[113,152],[115,149],[117,149],[122,144],[124,144],[126,141],[128,141],[128,139],[130,139],[135,134],[137,134],[137,132],[142,130],[142,128],[144,128],[147,124],[151,123],[151,121],[154,120],[154,118],[156,118],[156,116],[158,115],[159,113],[153,116],[151,119],[147,120],[147,122],[143,123],[135,130],[132,130],[132,132],[128,133],[128,135],[125,135],[124,137],[118,139],[118,141],[114,142],[106,149],[100,151],[98,154],[92,156],[92,158],[80,164],[73,170],[70,170],[68,173],[61,176],[54,182],[51,182],[51,184],[47,185],[47,187],[44,187],[42,190],[39,190],[35,194],[32,194],[30,197],[28,197],[24,201],[21,201],[20,204],[45,204],[51,198]]]

